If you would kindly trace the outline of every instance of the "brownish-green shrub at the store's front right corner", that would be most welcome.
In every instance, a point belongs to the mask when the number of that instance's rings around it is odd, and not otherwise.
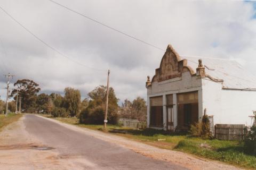
[[[208,116],[204,115],[202,122],[191,125],[189,132],[192,137],[212,138]]]

